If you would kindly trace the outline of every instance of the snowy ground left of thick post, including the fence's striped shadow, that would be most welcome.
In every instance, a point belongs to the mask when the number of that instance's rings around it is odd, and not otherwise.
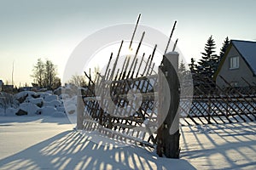
[[[93,143],[108,140],[70,130],[67,118],[19,118],[0,117],[0,169],[195,169],[188,161],[159,158],[137,146]]]

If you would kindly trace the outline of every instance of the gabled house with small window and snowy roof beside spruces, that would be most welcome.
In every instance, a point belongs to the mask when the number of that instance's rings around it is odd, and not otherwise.
[[[256,42],[231,40],[214,80],[220,88],[256,86]]]

